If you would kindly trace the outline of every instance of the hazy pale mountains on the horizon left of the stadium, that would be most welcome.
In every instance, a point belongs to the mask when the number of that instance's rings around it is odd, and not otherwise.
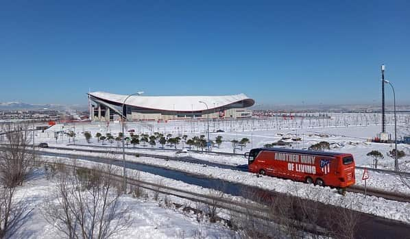
[[[21,102],[0,102],[0,110],[86,110],[86,105],[30,104]]]

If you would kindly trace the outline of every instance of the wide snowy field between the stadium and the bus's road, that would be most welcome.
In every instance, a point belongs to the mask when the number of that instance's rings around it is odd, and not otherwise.
[[[320,117],[319,117],[320,115]],[[386,126],[387,133],[394,138],[394,117],[392,114],[387,114]],[[245,120],[224,120],[210,121],[210,140],[214,140],[217,136],[222,136],[223,142],[219,147],[215,144],[212,151],[233,152],[232,140],[241,140],[248,138],[250,142],[245,147],[236,147],[236,153],[245,153],[252,148],[263,147],[265,144],[277,142],[282,138],[287,138],[283,141],[289,142],[289,147],[293,149],[307,149],[312,144],[320,141],[330,143],[331,151],[352,153],[358,166],[373,167],[373,159],[366,154],[372,150],[378,150],[383,153],[384,158],[379,160],[378,167],[392,170],[394,169],[394,160],[387,156],[387,153],[394,149],[394,144],[382,144],[368,142],[370,138],[374,138],[381,131],[381,115],[380,114],[321,114],[316,113],[315,117],[276,117],[276,118],[252,118]],[[112,140],[109,142],[98,142],[95,134],[100,133],[105,136],[107,133],[117,137],[121,131],[119,123],[70,123],[65,125],[55,125],[47,129],[43,133],[36,132],[35,142],[48,142],[51,145],[66,145],[73,143],[73,138],[64,134],[58,134],[57,140],[54,137],[55,131],[75,131],[76,144],[88,144],[84,138],[83,132],[91,132],[93,138],[88,145],[98,146],[117,146],[119,142]],[[171,134],[171,137],[182,137],[186,135],[188,138],[193,136],[206,136],[206,121],[168,121],[156,122],[145,121],[141,123],[128,122],[126,125],[125,136],[129,136],[126,131],[134,130],[134,134],[149,134],[158,132],[166,136]],[[215,132],[218,129],[224,132]],[[398,138],[410,135],[410,114],[398,114]],[[300,138],[300,141],[293,141],[292,138]],[[104,144],[104,145],[103,145]],[[147,150],[152,148],[147,143],[140,142],[136,147],[145,147]],[[161,145],[156,142],[155,148],[161,148]],[[178,149],[187,147],[184,140],[177,145]],[[129,144],[128,148],[132,148]],[[173,147],[165,146],[167,149]],[[197,149],[197,148],[193,148]],[[398,144],[399,150],[404,150],[410,154],[410,145]],[[200,156],[198,156],[200,157]],[[206,156],[208,157],[208,156]],[[244,158],[229,159],[230,164],[246,164]],[[410,158],[407,156],[400,159],[401,168],[410,168]]]

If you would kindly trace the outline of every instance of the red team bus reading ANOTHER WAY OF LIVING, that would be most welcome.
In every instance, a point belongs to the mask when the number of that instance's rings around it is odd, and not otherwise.
[[[339,188],[339,192],[355,182],[350,153],[258,148],[245,153],[245,158],[251,173],[332,186]]]

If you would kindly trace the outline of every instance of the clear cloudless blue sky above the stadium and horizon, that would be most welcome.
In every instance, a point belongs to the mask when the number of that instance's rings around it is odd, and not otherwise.
[[[410,1],[1,1],[0,102],[410,103]],[[387,88],[387,99],[392,99]]]

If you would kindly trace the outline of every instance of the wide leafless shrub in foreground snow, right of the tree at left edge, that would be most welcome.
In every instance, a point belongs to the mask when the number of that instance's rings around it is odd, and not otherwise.
[[[130,226],[119,207],[112,166],[74,168],[58,175],[52,197],[43,206],[46,221],[68,238],[110,238]]]

